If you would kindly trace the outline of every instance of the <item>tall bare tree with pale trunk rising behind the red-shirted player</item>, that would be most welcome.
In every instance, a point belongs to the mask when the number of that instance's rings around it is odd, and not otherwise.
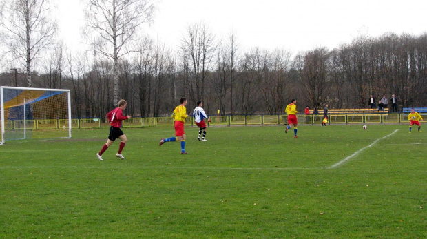
[[[98,40],[94,50],[112,59],[114,62],[114,105],[118,101],[118,59],[134,52],[128,43],[137,38],[136,31],[143,23],[152,21],[154,4],[149,0],[87,0],[85,12],[86,32],[92,40],[96,32]]]

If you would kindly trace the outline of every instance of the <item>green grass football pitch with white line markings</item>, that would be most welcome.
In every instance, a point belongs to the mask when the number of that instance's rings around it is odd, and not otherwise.
[[[172,127],[123,131],[125,160],[96,159],[107,128],[1,145],[0,238],[427,237],[416,128],[187,127],[189,155],[158,147]]]

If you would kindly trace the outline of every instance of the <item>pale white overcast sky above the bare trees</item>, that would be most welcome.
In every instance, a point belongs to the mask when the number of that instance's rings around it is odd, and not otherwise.
[[[217,37],[233,30],[243,49],[284,48],[296,53],[351,43],[360,34],[385,32],[415,36],[427,32],[426,0],[158,0],[154,23],[145,26],[154,39],[176,49],[186,28],[204,22]],[[58,0],[55,14],[61,37],[81,49],[81,0]]]

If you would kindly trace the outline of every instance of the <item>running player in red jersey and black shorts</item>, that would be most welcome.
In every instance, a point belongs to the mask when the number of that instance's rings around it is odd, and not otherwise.
[[[108,121],[110,122],[110,125],[111,125],[110,134],[108,135],[107,143],[105,143],[101,151],[96,154],[98,159],[101,161],[103,161],[103,152],[105,152],[105,150],[107,150],[108,147],[110,147],[113,144],[116,138],[120,139],[121,141],[120,145],[118,145],[118,152],[116,156],[118,158],[125,159],[125,157],[123,157],[122,150],[125,147],[127,138],[125,133],[123,133],[123,131],[120,129],[120,127],[123,120],[131,118],[131,116],[129,115],[128,116],[123,115],[123,110],[126,109],[126,106],[127,106],[126,101],[120,100],[118,101],[118,107],[108,112],[107,114]]]

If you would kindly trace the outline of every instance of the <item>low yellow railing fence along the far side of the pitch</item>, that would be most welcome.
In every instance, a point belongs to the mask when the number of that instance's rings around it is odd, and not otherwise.
[[[427,113],[420,113],[427,116]],[[209,125],[233,126],[233,125],[283,125],[287,123],[287,114],[229,114],[211,116]],[[298,124],[317,125],[322,123],[323,116],[317,114],[298,114]],[[329,114],[329,125],[333,124],[369,124],[369,123],[409,123],[408,113],[382,113],[377,114]],[[8,119],[5,129],[23,129],[23,120]],[[72,129],[96,129],[110,127],[109,123],[103,123],[99,117],[72,118]],[[194,118],[187,118],[187,125],[196,126]],[[25,121],[27,129],[61,129],[68,127],[67,119],[30,119]],[[143,116],[132,117],[122,121],[122,127],[153,127],[162,125],[174,125],[171,116]]]

